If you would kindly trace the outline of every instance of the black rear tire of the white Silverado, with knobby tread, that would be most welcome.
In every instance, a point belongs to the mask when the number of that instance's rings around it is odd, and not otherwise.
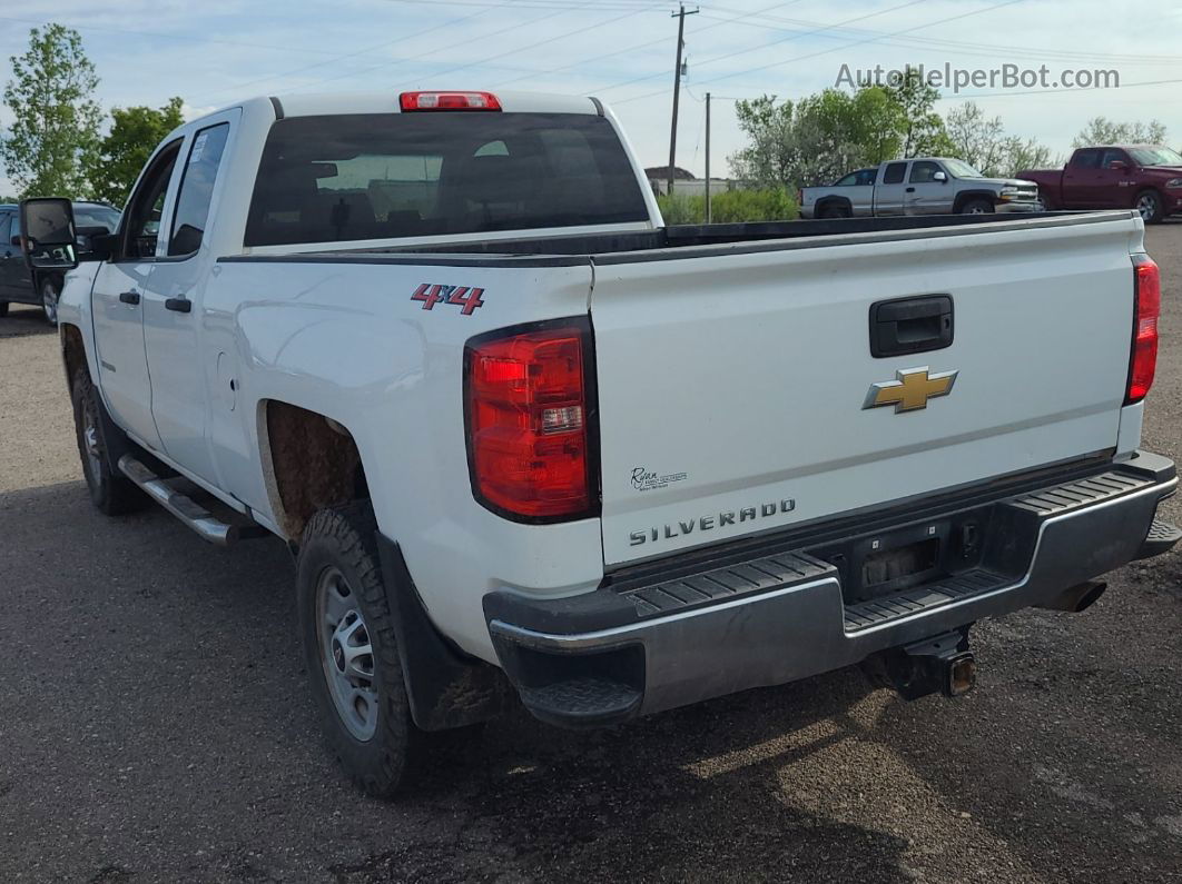
[[[402,786],[421,751],[422,733],[410,718],[407,686],[398,659],[394,614],[382,582],[377,551],[377,523],[369,502],[319,510],[304,529],[297,561],[296,597],[299,605],[300,637],[307,664],[309,687],[316,702],[329,747],[350,779],[366,793],[391,798]],[[325,633],[338,635],[349,614],[333,629],[326,608],[322,608],[324,581],[343,578],[362,618],[364,641],[371,649],[369,687],[376,694],[374,729],[365,738],[356,734],[358,716],[346,723],[345,715],[357,714],[356,702],[342,709],[335,685],[350,672],[336,639],[326,644]],[[336,584],[340,587],[340,583]],[[339,596],[338,596],[339,597]],[[356,620],[352,621],[356,623]],[[333,669],[335,667],[335,669]],[[365,687],[364,680],[358,687]]]

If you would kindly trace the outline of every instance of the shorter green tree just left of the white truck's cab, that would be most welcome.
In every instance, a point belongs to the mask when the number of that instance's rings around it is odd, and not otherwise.
[[[160,109],[112,107],[111,119],[111,131],[99,144],[86,171],[96,199],[123,205],[156,145],[184,122],[181,99],[170,98]]]

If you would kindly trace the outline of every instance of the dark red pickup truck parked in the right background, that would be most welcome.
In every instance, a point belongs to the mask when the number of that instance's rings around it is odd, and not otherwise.
[[[1182,155],[1152,144],[1080,148],[1063,169],[1018,172],[1051,209],[1136,209],[1147,224],[1182,212]]]

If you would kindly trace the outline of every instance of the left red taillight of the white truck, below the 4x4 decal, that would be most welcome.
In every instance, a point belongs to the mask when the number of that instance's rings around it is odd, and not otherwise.
[[[584,321],[468,345],[472,486],[494,512],[525,522],[593,515],[589,340]]]

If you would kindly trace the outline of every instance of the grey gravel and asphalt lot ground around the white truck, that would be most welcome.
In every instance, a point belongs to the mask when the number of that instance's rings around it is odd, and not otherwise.
[[[1182,223],[1149,231],[1182,456]],[[1053,329],[1047,329],[1053,334]],[[1169,516],[1182,518],[1177,500]],[[56,338],[0,320],[0,879],[1182,880],[1182,556],[974,635],[980,687],[842,672],[570,734],[437,740],[397,804],[322,749],[278,542],[89,504]]]

